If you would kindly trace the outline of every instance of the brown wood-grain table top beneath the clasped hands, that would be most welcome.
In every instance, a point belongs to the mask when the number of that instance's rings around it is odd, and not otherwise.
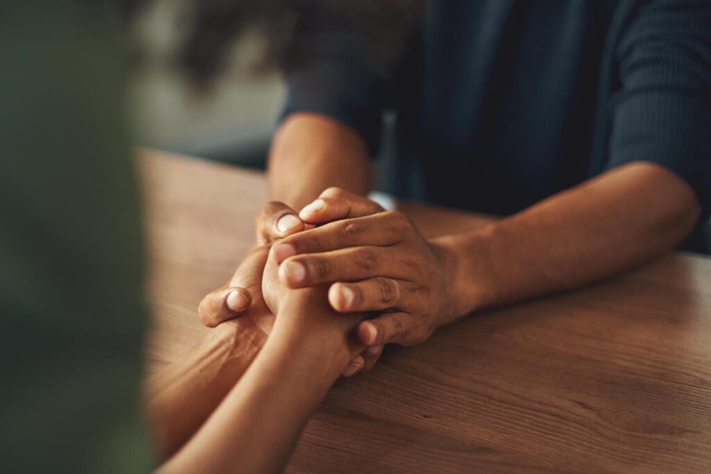
[[[155,369],[198,343],[198,301],[254,240],[264,176],[146,152]],[[403,205],[427,235],[482,225]],[[387,348],[333,389],[290,473],[711,473],[711,259],[675,253],[586,289]]]

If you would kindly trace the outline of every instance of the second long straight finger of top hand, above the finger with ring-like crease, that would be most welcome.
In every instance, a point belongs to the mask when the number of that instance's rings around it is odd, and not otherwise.
[[[279,265],[279,281],[289,288],[306,288],[336,281],[358,281],[376,275],[405,278],[410,267],[385,247],[349,247],[321,254],[289,257]]]

